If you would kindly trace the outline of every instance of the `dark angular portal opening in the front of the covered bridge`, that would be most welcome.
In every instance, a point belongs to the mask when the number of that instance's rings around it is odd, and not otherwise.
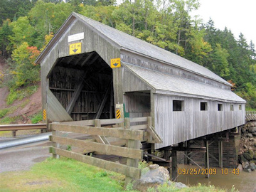
[[[112,69],[95,51],[58,58],[49,89],[74,121],[114,118]]]

